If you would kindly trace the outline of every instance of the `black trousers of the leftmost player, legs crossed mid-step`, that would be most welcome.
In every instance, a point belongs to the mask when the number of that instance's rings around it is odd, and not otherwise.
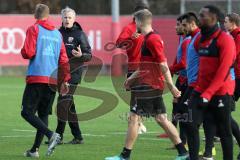
[[[56,93],[54,87],[50,88],[48,84],[27,84],[24,90],[21,115],[37,129],[33,150],[40,147],[44,135],[51,138],[48,115]]]

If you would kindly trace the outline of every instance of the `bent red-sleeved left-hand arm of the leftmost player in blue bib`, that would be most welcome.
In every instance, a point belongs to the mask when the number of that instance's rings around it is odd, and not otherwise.
[[[21,49],[21,55],[24,59],[32,59],[36,54],[38,37],[38,27],[36,25],[27,29],[24,45]]]

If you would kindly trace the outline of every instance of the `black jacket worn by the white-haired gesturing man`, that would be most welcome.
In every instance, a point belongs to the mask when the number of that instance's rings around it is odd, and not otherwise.
[[[83,63],[90,61],[92,58],[91,47],[88,43],[88,38],[83,32],[82,27],[74,22],[72,28],[61,27],[59,29],[63,36],[63,41],[69,58],[71,80],[70,83],[77,84],[81,81]],[[79,58],[72,55],[72,50],[77,50],[80,45],[83,55]]]

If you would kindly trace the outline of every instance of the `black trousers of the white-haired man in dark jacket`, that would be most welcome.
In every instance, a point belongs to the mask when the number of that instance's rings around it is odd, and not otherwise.
[[[69,93],[65,96],[58,96],[57,102],[57,117],[58,124],[56,132],[63,138],[63,133],[65,130],[66,122],[71,128],[71,133],[74,138],[82,140],[82,133],[79,127],[78,117],[76,113],[76,108],[74,104],[73,94],[77,88],[77,85],[70,85]]]

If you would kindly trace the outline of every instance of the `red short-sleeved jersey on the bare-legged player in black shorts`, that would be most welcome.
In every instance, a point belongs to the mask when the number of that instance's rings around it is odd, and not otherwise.
[[[159,64],[166,61],[161,36],[153,31],[148,33],[141,51],[140,83],[163,90],[164,77]]]

